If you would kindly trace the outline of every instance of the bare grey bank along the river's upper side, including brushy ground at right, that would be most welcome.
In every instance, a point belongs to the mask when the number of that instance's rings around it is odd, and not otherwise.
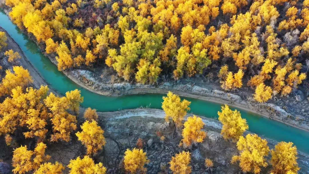
[[[8,9],[5,11],[8,13]],[[26,33],[30,39],[35,41],[33,35],[25,31],[23,32]],[[41,52],[44,53],[53,64],[57,65],[55,54],[46,54],[44,46],[37,42],[36,44],[40,47]],[[201,78],[169,81],[154,86],[119,82],[121,80],[114,83],[115,80],[112,80],[111,76],[115,76],[115,73],[108,68],[104,68],[103,71],[97,71],[97,69],[74,69],[63,73],[76,84],[101,95],[166,94],[168,91],[172,91],[184,97],[229,104],[306,131],[309,130],[309,104],[304,97],[302,101],[296,101],[291,97],[274,97],[267,103],[257,103],[252,98],[252,92],[246,88],[236,90],[233,94],[227,93],[221,90],[218,82],[204,82],[204,79]]]

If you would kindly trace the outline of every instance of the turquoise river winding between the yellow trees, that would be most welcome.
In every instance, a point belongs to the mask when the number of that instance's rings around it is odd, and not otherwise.
[[[10,36],[17,42],[21,50],[25,53],[27,59],[40,72],[41,76],[46,80],[49,86],[60,94],[66,91],[79,89],[84,97],[83,107],[91,107],[97,111],[118,111],[121,109],[137,108],[150,106],[151,108],[160,108],[162,96],[165,94],[141,94],[141,95],[125,95],[121,97],[109,97],[92,93],[87,89],[75,84],[63,73],[57,70],[57,67],[43,54],[41,54],[36,44],[28,39],[15,24],[11,22],[9,17],[0,11],[0,26],[4,28]],[[182,97],[186,98],[186,97]],[[208,118],[218,118],[217,112],[220,110],[221,104],[198,100],[194,98],[186,98],[191,101],[190,112],[205,116]],[[235,109],[235,108],[234,108]],[[253,114],[248,111],[239,109],[243,118],[249,125],[249,131],[257,133],[261,136],[271,138],[276,141],[291,141],[298,150],[309,154],[309,132],[294,128],[292,126],[270,120],[260,115]]]

